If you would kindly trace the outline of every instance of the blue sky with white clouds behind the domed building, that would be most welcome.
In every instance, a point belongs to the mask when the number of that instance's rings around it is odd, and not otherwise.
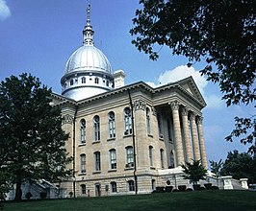
[[[152,61],[131,44],[132,18],[139,0],[90,0],[94,44],[110,60],[113,70],[126,72],[125,83],[164,84],[192,75],[208,106],[204,108],[204,135],[208,160],[225,159],[227,152],[245,152],[239,141],[224,137],[233,129],[234,116],[250,116],[252,106],[226,107],[218,84],[206,82],[198,70],[204,62],[186,67],[187,59],[173,57],[164,47]],[[86,0],[0,0],[0,81],[22,72],[37,76],[61,93],[60,80],[69,56],[82,45]]]

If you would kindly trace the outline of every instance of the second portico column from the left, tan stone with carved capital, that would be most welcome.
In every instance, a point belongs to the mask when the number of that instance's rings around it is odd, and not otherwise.
[[[189,119],[188,119],[188,109],[186,107],[182,108],[182,123],[184,130],[184,139],[185,139],[185,149],[186,149],[186,161],[192,161],[192,144],[191,144],[191,136],[189,129]]]

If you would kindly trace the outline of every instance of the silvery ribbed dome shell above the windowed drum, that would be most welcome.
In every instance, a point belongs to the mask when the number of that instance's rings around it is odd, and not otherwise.
[[[92,45],[84,45],[71,55],[65,64],[64,74],[81,70],[112,74],[110,61],[99,49]]]

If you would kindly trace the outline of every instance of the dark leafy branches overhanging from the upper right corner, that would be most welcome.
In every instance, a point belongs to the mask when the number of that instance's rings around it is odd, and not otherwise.
[[[173,55],[204,60],[200,71],[208,81],[218,82],[227,106],[249,105],[256,100],[256,2],[255,0],[141,0],[136,11],[132,43],[150,59],[159,57],[160,46]],[[255,106],[255,105],[253,105]],[[256,152],[255,115],[235,118],[226,140],[243,136]]]

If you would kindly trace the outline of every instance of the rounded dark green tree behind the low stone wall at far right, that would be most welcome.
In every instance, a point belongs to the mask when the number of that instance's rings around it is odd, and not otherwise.
[[[249,183],[256,182],[256,155],[247,152],[228,152],[227,158],[220,171],[222,176],[233,178],[248,178]]]

